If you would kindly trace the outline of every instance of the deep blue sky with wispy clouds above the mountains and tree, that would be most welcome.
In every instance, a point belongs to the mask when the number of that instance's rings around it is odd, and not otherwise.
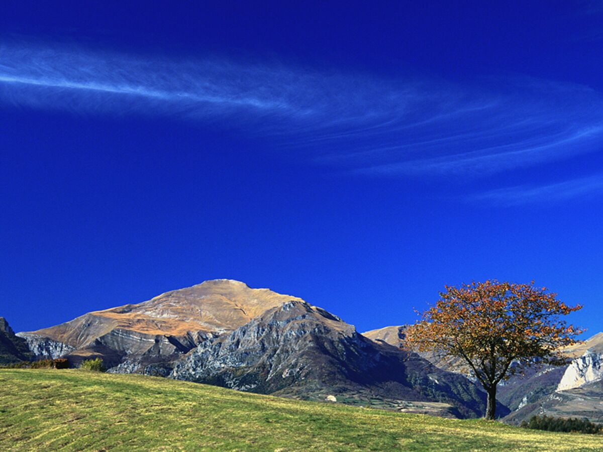
[[[498,278],[603,330],[603,4],[285,3],[3,7],[0,315],[233,278],[364,331]]]

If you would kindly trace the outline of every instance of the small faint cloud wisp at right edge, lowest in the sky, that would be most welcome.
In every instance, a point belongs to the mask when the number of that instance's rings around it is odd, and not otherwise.
[[[487,201],[488,204],[520,206],[523,204],[550,204],[575,198],[603,194],[603,174],[576,178],[541,186],[515,186],[490,190],[469,196],[470,201]]]

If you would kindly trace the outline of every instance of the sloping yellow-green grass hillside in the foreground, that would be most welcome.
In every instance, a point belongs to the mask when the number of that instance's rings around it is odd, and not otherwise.
[[[81,370],[0,369],[0,450],[601,450],[603,437]]]

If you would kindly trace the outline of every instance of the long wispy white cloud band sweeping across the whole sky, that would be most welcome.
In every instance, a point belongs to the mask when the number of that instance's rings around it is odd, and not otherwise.
[[[482,177],[601,150],[603,99],[531,78],[490,90],[220,60],[0,46],[0,102],[224,121],[335,171]]]

